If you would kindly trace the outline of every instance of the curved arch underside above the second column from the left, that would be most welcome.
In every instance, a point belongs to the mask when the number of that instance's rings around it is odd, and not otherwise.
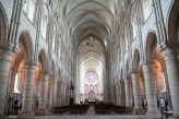
[[[33,41],[28,31],[22,31],[19,36],[16,44],[21,44],[25,50],[25,59],[33,60]],[[21,49],[21,48],[20,48]]]

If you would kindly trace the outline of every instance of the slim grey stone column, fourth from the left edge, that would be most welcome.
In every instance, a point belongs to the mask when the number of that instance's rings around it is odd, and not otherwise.
[[[56,76],[51,80],[50,107],[57,106],[57,80],[58,80],[58,76]]]

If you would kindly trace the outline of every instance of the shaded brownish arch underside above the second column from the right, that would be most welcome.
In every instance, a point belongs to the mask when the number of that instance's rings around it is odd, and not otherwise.
[[[144,45],[144,49],[145,49],[145,60],[147,62],[153,61],[154,59],[154,52],[157,46],[157,36],[155,34],[155,32],[150,32],[146,36],[146,43]]]

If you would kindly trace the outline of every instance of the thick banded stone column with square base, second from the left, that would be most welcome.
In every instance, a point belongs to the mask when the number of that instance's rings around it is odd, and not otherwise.
[[[36,69],[36,62],[26,62],[26,73],[25,73],[25,82],[24,82],[22,110],[19,115],[20,117],[34,115],[33,110],[32,110],[32,105],[33,105],[35,69]]]

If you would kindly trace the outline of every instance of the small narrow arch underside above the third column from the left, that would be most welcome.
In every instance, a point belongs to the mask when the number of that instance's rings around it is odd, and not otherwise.
[[[47,71],[47,57],[46,57],[46,52],[45,52],[45,49],[41,48],[39,50],[39,53],[38,53],[38,61],[40,63],[40,71],[41,72],[45,72]]]

